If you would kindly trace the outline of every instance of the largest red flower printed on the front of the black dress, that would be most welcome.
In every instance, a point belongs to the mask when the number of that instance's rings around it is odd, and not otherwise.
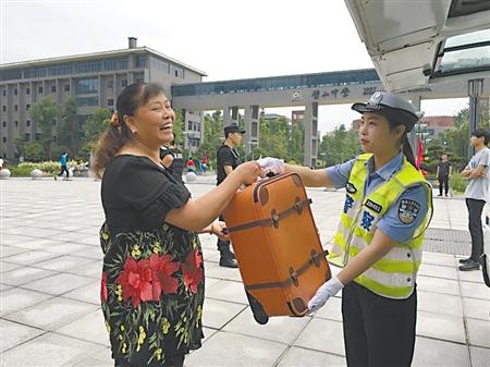
[[[175,293],[177,280],[171,276],[179,269],[177,262],[172,262],[169,255],[152,254],[147,259],[136,261],[128,257],[123,271],[115,280],[122,286],[122,298],[131,298],[134,307],[139,302],[160,301],[161,293]],[[161,277],[164,273],[167,277]],[[174,285],[175,284],[175,285]]]

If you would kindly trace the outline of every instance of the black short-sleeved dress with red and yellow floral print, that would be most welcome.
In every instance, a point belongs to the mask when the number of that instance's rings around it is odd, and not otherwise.
[[[162,366],[200,347],[204,266],[199,238],[164,223],[191,194],[144,157],[119,156],[102,179],[106,222],[101,304],[112,356]]]

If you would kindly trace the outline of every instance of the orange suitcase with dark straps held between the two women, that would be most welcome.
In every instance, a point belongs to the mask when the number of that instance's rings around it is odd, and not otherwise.
[[[305,187],[295,173],[240,189],[223,212],[245,291],[259,323],[304,316],[331,278]]]

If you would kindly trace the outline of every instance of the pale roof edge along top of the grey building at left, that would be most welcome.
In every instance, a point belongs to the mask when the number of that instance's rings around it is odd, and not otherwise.
[[[49,58],[49,59],[37,59],[37,60],[27,60],[27,61],[19,61],[19,62],[11,62],[11,63],[4,63],[0,64],[0,70],[8,70],[8,69],[17,69],[17,68],[26,68],[26,66],[46,66],[51,65],[54,63],[60,62],[70,62],[70,61],[83,61],[83,60],[94,60],[94,59],[105,59],[110,57],[121,57],[126,56],[130,53],[144,53],[148,52],[150,54],[154,54],[158,58],[166,59],[174,64],[177,64],[184,69],[187,69],[189,71],[193,71],[201,76],[208,76],[204,71],[193,68],[191,65],[187,65],[179,60],[175,60],[173,58],[170,58],[163,53],[160,53],[149,47],[143,46],[143,47],[136,47],[136,48],[125,48],[121,50],[112,50],[112,51],[101,51],[101,52],[93,52],[93,53],[82,53],[82,54],[73,54],[73,56],[65,56],[65,57],[57,57],[57,58]]]

